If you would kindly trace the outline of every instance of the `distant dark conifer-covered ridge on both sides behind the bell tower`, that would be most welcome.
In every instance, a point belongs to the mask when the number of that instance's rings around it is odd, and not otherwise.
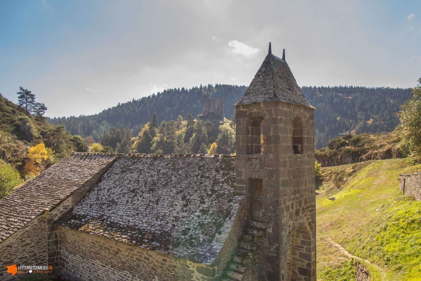
[[[129,126],[133,136],[136,136],[154,112],[163,121],[176,120],[178,115],[186,119],[187,112],[193,116],[200,114],[203,92],[223,96],[225,117],[230,119],[233,115],[232,105],[246,88],[221,84],[191,89],[174,88],[118,104],[95,115],[49,118],[48,121],[65,125],[71,134],[92,136],[96,141],[101,140],[111,127]],[[316,148],[325,147],[338,133],[393,131],[398,123],[395,113],[411,96],[410,89],[400,88],[302,87],[302,91],[309,102],[317,107],[314,118]]]

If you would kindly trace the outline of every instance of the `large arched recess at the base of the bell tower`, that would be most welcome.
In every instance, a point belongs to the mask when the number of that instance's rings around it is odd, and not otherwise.
[[[312,276],[310,233],[298,228],[290,237],[287,254],[287,281],[309,280]]]

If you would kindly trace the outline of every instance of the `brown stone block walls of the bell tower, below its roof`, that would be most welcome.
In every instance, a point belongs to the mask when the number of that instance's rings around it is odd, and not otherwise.
[[[293,119],[303,128],[303,154],[293,154]],[[265,154],[247,154],[247,128],[261,118],[266,131]],[[257,241],[259,280],[287,280],[290,237],[305,229],[310,236],[305,280],[316,279],[314,110],[285,102],[236,107],[236,188],[251,196],[250,179],[263,180],[263,217],[266,237]],[[251,206],[248,206],[251,210]],[[249,213],[250,215],[250,213]],[[303,279],[304,280],[304,279]]]

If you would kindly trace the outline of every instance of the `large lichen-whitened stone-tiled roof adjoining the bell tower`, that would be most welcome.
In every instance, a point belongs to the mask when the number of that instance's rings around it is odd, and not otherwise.
[[[123,155],[59,224],[205,264],[240,203],[235,157]]]

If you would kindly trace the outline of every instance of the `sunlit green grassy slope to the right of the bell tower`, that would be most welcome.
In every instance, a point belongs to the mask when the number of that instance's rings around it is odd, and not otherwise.
[[[413,173],[417,167],[406,161],[367,162],[341,189],[330,189],[336,193],[317,195],[318,279],[354,280],[340,273],[349,272],[349,258],[334,250],[331,239],[368,260],[374,279],[421,280],[421,202],[398,189],[399,174]],[[337,199],[328,200],[332,195]]]

